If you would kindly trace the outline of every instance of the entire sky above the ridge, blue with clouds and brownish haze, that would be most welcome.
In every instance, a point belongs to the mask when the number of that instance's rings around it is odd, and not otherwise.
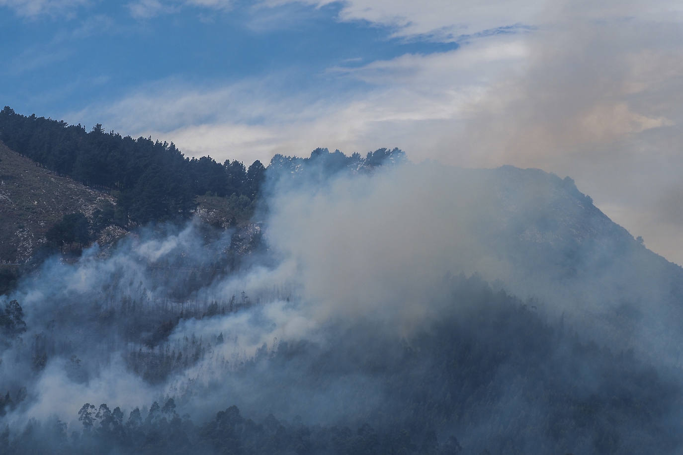
[[[0,0],[0,103],[186,156],[569,175],[683,264],[683,3]]]

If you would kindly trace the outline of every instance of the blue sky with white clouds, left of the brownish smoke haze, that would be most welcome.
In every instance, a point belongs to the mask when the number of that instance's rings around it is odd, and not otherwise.
[[[440,121],[462,102],[440,86],[415,91],[430,84],[406,80],[420,77],[421,59],[458,70],[460,47],[531,30],[529,14],[437,3],[0,0],[0,96],[19,113],[103,123],[217,160],[376,149],[393,134],[367,126]],[[490,72],[467,71],[454,76],[463,93]]]

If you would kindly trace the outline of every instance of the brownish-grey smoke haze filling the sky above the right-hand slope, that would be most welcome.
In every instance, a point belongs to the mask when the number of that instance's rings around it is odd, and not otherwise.
[[[572,175],[613,220],[681,263],[681,230],[670,215],[680,207],[668,196],[679,192],[673,170],[682,165],[680,8],[552,2],[529,20],[532,33],[500,40],[523,56],[482,70],[488,79],[480,77],[482,89],[432,156]]]

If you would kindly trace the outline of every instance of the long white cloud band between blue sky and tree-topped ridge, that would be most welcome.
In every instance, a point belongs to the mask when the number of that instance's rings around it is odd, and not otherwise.
[[[320,75],[367,85],[344,93],[324,84],[292,91],[284,74],[204,89],[167,80],[70,118],[83,121],[98,113],[101,119],[104,113],[108,128],[163,137],[186,153],[217,159],[268,161],[273,153],[307,153],[318,145],[363,153],[400,145],[421,160],[432,155],[425,129],[462,121],[462,109],[486,85],[484,69],[522,61],[525,52],[522,42],[489,40],[447,53],[330,68]]]

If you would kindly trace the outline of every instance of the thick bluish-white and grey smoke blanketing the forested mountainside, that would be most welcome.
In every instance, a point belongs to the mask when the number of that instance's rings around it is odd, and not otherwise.
[[[535,297],[528,308],[508,305],[522,308],[528,327],[566,325],[585,342],[633,349],[635,372],[644,364],[680,380],[680,267],[637,244],[570,179],[436,163],[340,173],[322,183],[303,178],[273,186],[267,248],[232,271],[223,263],[229,233],[198,222],[143,230],[111,251],[87,250],[75,264],[48,261],[6,297],[23,306],[27,332],[3,347],[0,384],[26,398],[3,420],[20,430],[29,417],[57,415],[72,430],[85,402],[127,415],[171,397],[198,422],[232,404],[307,424],[382,422],[378,409],[402,402],[387,385],[389,366],[363,351],[388,353],[392,365],[406,355],[396,349],[426,343],[438,330],[465,336],[468,325],[488,327],[507,308],[507,297],[477,291],[479,284],[453,278],[459,274]],[[502,309],[492,303],[499,301]],[[435,328],[444,321],[454,323]],[[500,321],[515,339],[534,338],[523,325]],[[486,344],[504,335],[471,336]],[[558,342],[550,357],[568,357],[585,371],[571,379],[559,371],[557,380],[576,396],[600,393],[606,380],[594,377],[592,354],[568,353],[569,343]],[[412,375],[434,368],[428,351],[412,355]],[[515,392],[528,385],[505,380],[521,372],[501,360],[490,380],[509,388],[487,409],[524,411],[541,422],[545,405]],[[437,430],[483,449],[499,431],[485,415],[467,425],[446,420]],[[617,426],[620,437],[628,439],[630,422]],[[525,438],[540,444],[538,435]]]

